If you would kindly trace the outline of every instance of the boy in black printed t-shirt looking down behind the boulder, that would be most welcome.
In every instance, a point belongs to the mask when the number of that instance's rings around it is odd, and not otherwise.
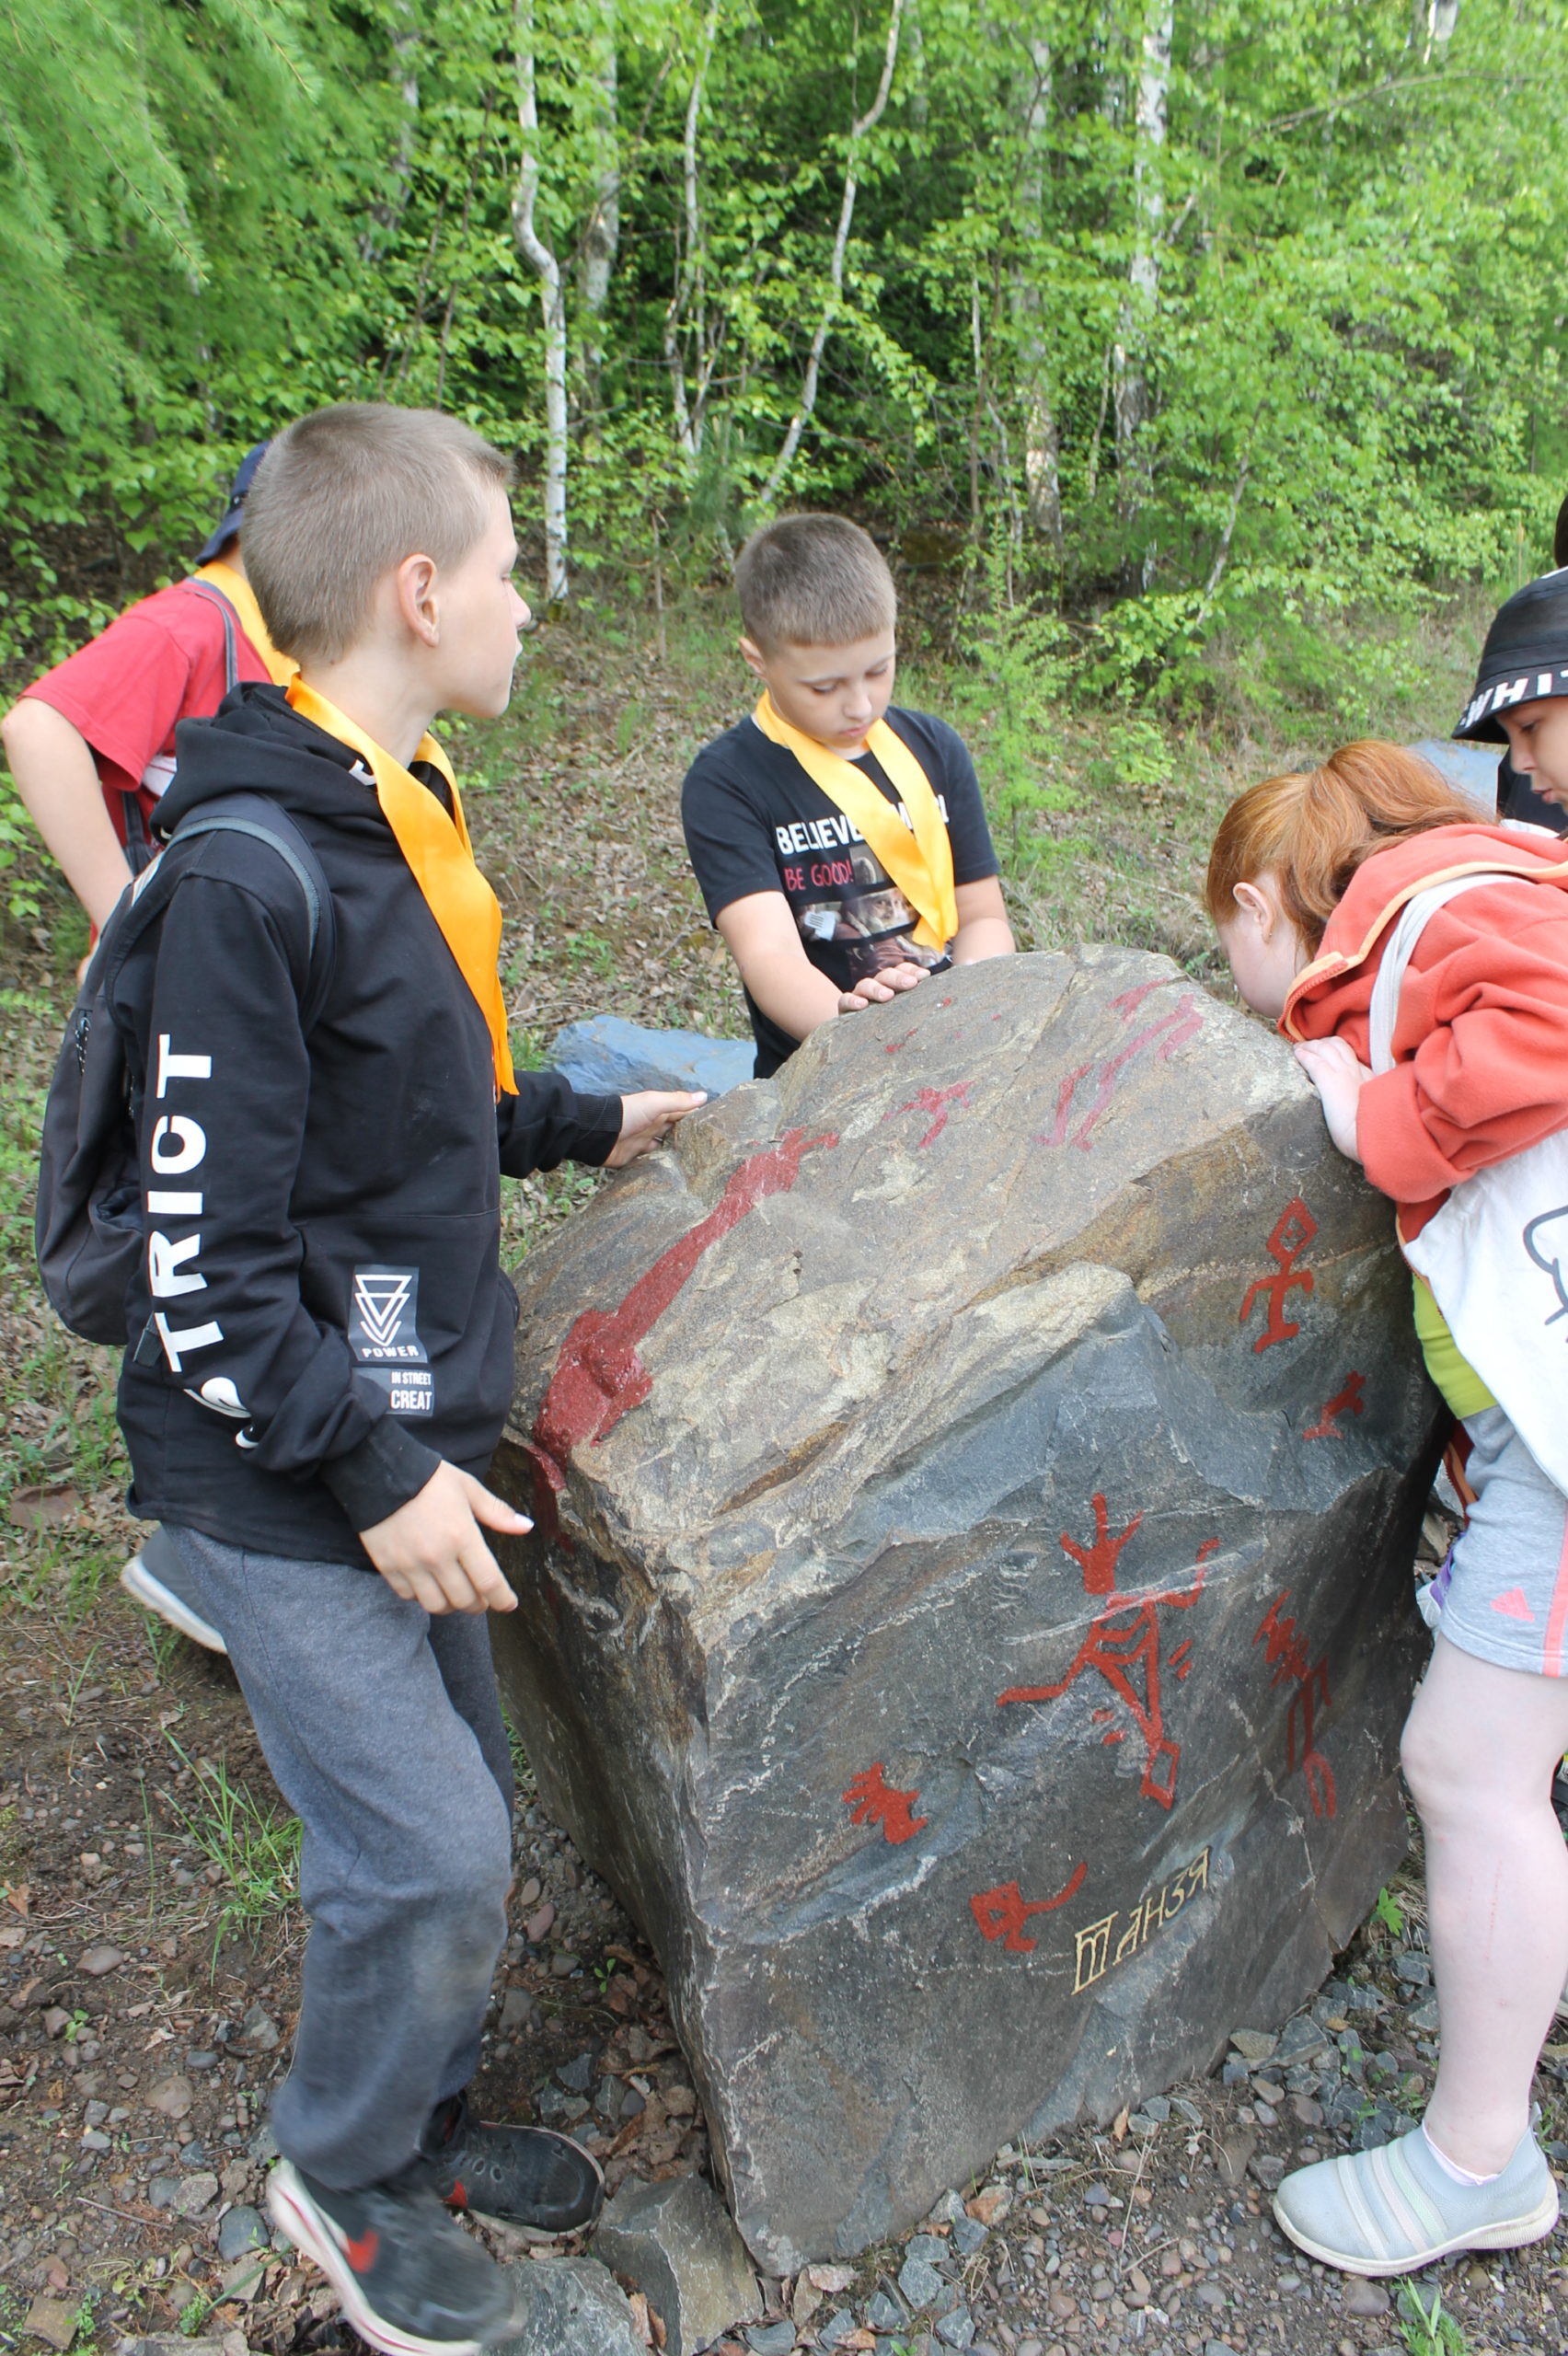
[[[833,1015],[1008,957],[975,763],[890,704],[897,594],[845,516],[782,516],[735,587],[756,712],[692,761],[685,848],[746,990],[768,1079]]]

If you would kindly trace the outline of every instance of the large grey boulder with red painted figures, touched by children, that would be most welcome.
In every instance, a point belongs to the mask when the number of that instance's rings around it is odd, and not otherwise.
[[[1172,964],[819,1032],[523,1265],[494,1628],[770,2274],[1205,2069],[1403,1854],[1389,1204]]]

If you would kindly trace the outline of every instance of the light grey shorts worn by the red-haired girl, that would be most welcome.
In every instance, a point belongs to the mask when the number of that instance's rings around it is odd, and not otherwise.
[[[1523,1668],[1568,1675],[1568,1496],[1547,1480],[1500,1407],[1464,1416],[1469,1520],[1422,1604],[1450,1644]]]

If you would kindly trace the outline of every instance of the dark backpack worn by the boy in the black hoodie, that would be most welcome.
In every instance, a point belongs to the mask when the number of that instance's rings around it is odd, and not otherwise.
[[[332,987],[337,928],[327,879],[294,820],[266,794],[221,794],[202,803],[120,895],[66,1025],[38,1152],[38,1270],[61,1324],[82,1341],[127,1341],[125,1293],[146,1249],[129,1063],[111,1013],[113,992],[125,959],[188,872],[179,848],[200,834],[250,834],[292,869],[311,928],[311,971],[299,1004],[306,1032]]]

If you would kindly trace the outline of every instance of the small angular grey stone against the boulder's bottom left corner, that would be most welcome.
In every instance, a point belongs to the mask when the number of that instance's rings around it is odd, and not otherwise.
[[[697,2356],[763,2311],[746,2245],[702,2177],[629,2177],[598,2219],[593,2255],[655,2309],[664,2356]]]

